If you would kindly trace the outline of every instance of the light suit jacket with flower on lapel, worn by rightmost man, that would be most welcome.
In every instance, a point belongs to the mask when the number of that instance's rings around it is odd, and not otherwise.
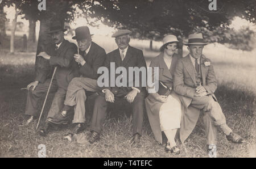
[[[210,65],[205,66],[205,62],[210,62]],[[212,62],[203,55],[200,60],[200,67],[203,86],[208,94],[212,95],[216,100],[214,92],[217,88],[217,80]],[[191,58],[188,54],[178,61],[174,73],[174,90],[177,94],[184,96],[182,100],[186,107],[191,104],[192,98],[196,94],[196,87],[195,68],[193,67]]]

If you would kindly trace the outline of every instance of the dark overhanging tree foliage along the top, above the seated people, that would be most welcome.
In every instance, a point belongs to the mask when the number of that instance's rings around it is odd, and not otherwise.
[[[210,11],[205,0],[98,0],[84,1],[80,9],[103,23],[132,29],[140,38],[162,38],[166,33],[187,36],[195,29],[225,29],[234,16],[255,23],[254,0],[217,0]]]

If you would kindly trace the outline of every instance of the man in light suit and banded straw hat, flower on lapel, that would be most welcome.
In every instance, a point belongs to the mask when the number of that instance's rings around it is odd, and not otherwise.
[[[204,45],[207,45],[202,33],[189,35],[185,45],[188,46],[189,54],[178,61],[174,74],[174,90],[181,95],[181,102],[187,107],[181,120],[181,142],[191,134],[200,111],[204,112],[208,153],[216,147],[217,126],[224,132],[227,140],[234,143],[245,142],[226,124],[224,113],[214,95],[217,80],[212,62],[202,54]]]

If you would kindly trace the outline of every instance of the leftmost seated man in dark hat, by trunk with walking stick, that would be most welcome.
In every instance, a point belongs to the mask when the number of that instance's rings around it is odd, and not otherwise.
[[[55,96],[48,112],[46,125],[39,130],[39,133],[43,136],[50,126],[48,119],[55,116],[63,108],[69,82],[79,75],[78,64],[73,58],[74,54],[77,53],[77,47],[75,44],[64,39],[64,31],[66,29],[59,22],[51,24],[48,33],[53,43],[47,45],[46,49],[37,55],[39,58],[36,63],[36,78],[34,82],[27,86],[28,95],[25,114],[30,115],[26,122],[26,124],[29,124],[38,116],[38,103],[48,90],[52,77],[52,68],[57,66],[49,90],[49,92],[55,92]]]

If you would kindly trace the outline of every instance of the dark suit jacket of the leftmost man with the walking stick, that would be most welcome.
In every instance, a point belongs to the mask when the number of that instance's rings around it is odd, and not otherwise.
[[[74,54],[77,53],[75,44],[63,40],[59,49],[55,51],[55,45],[51,44],[46,47],[46,53],[51,56],[49,60],[40,58],[36,69],[36,81],[43,83],[52,75],[53,67],[57,66],[55,79],[59,87],[67,89],[69,82],[79,75],[78,64],[74,60]]]

